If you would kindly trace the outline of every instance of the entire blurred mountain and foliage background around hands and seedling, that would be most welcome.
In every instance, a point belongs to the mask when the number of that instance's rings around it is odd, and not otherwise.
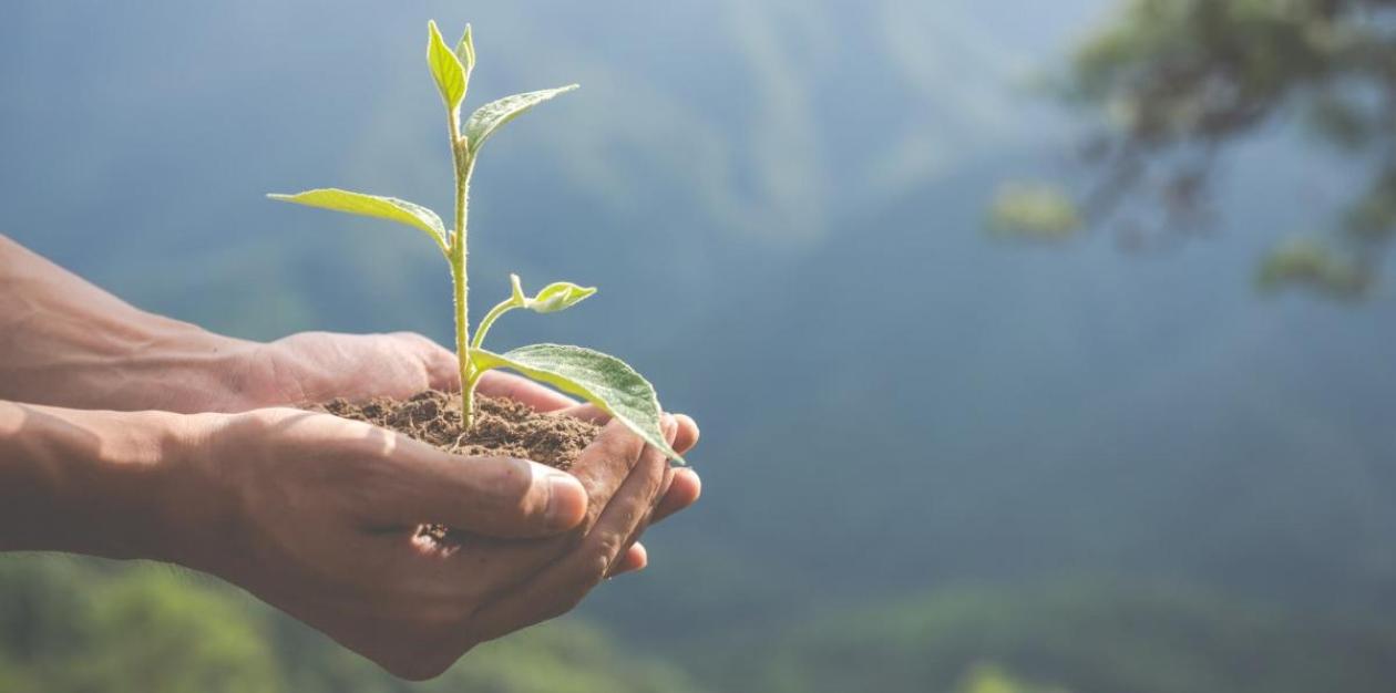
[[[11,0],[0,231],[254,339],[420,330],[426,21],[496,138],[503,323],[691,413],[704,501],[578,612],[398,682],[216,580],[0,559],[8,692],[1396,690],[1386,0]]]

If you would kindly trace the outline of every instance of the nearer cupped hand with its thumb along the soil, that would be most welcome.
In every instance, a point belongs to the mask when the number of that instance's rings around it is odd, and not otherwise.
[[[200,432],[172,496],[197,499],[174,523],[201,530],[170,559],[410,679],[571,609],[627,561],[670,478],[618,424],[567,474],[297,410],[190,420]],[[676,418],[664,428],[692,445]],[[424,523],[463,538],[433,544],[417,537]]]

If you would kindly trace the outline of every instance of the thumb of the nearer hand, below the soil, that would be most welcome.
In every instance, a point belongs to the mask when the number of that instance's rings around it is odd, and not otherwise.
[[[381,489],[384,521],[525,538],[567,531],[586,515],[586,491],[577,477],[536,462],[462,457],[416,445],[399,453],[399,485]]]

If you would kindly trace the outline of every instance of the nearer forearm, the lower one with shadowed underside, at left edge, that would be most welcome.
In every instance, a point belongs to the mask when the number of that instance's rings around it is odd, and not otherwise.
[[[187,417],[0,402],[0,551],[184,556]]]

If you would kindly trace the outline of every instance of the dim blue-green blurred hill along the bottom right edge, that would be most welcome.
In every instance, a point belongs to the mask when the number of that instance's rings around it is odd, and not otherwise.
[[[765,647],[754,661],[747,653]],[[708,662],[732,690],[1382,693],[1396,627],[1168,584],[935,590],[752,633]]]

